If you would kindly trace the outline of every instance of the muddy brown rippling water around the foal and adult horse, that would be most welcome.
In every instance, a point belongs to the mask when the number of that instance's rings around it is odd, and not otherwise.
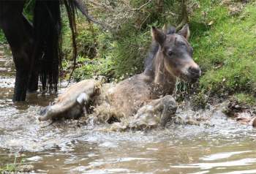
[[[12,103],[14,69],[0,48],[0,165],[23,161],[31,173],[256,173],[256,131],[226,118],[221,106],[197,113],[200,125],[110,132],[108,125],[37,121],[54,96]],[[189,109],[178,116],[195,117]]]

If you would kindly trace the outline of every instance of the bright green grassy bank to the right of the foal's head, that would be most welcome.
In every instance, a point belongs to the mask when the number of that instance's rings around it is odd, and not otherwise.
[[[204,10],[208,10],[206,16],[202,15]],[[231,16],[227,7],[215,1],[203,4],[191,19],[194,57],[204,74],[200,88],[219,95],[255,94],[255,3],[246,4],[241,14]],[[208,26],[211,21],[214,23]]]

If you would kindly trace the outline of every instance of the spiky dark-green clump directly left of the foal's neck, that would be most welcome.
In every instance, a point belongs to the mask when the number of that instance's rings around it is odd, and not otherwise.
[[[111,43],[106,58],[113,62],[116,78],[129,77],[143,71],[143,60],[146,58],[151,35],[146,32],[130,34]]]

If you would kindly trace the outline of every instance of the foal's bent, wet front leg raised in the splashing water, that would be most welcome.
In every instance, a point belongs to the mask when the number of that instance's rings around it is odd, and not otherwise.
[[[129,127],[165,126],[167,121],[176,113],[176,102],[173,97],[167,95],[160,99],[154,99],[147,105],[140,107]]]

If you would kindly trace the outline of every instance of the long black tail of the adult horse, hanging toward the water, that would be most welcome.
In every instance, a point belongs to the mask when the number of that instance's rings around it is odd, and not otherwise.
[[[73,58],[75,44],[75,5],[62,0],[67,9],[72,31]],[[57,90],[61,67],[61,0],[37,0],[34,7],[34,67],[37,68],[43,91]]]

